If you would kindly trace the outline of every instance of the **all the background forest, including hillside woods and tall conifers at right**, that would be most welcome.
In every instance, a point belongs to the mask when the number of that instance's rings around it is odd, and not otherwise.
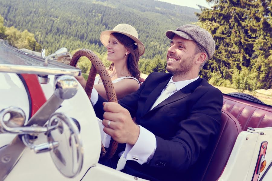
[[[197,10],[154,0],[0,0],[0,38],[16,47],[45,48],[46,54],[60,47],[71,53],[87,48],[108,66],[100,33],[127,23],[138,30],[145,45],[139,67],[149,74],[166,71],[169,40],[165,32],[183,24],[197,24],[212,33],[216,43],[214,56],[199,72],[201,77],[240,92],[270,89],[272,2],[206,1],[213,6]],[[81,60],[83,72],[90,66],[88,60]]]

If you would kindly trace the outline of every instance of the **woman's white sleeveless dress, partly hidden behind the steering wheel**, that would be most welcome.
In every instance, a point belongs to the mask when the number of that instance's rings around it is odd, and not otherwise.
[[[131,77],[131,76],[127,76],[127,77],[120,77],[120,78],[117,78],[115,80],[112,81],[112,83],[116,83],[116,82],[119,82],[125,78],[131,78],[131,79],[134,79],[138,82],[139,84],[139,87],[140,87],[140,83],[139,81],[135,78],[135,77]],[[94,81],[94,84],[98,84],[99,82],[99,79],[100,79],[100,76],[98,75]],[[102,82],[100,83],[102,84]],[[94,90],[94,89],[93,89]],[[111,137],[110,135],[106,134],[104,131],[103,131],[103,128],[104,128],[104,125],[102,124],[102,120],[97,118],[97,121],[99,122],[99,128],[100,128],[100,134],[101,134],[101,140],[102,140],[102,143],[103,145],[108,148],[109,146],[109,143],[110,143],[110,140],[111,140]]]

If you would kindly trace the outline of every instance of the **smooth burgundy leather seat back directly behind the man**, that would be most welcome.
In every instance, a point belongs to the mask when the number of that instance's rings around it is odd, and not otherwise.
[[[231,113],[222,110],[221,129],[207,166],[203,170],[202,181],[215,181],[219,178],[241,131],[238,120]]]

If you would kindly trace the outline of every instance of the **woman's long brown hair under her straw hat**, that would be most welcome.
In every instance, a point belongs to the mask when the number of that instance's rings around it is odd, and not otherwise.
[[[139,80],[140,78],[140,70],[138,67],[138,62],[140,59],[139,49],[138,46],[135,45],[135,41],[132,40],[130,37],[121,34],[121,33],[112,33],[112,35],[121,43],[123,44],[128,51],[130,52],[128,56],[128,71],[132,77],[135,77]],[[113,63],[110,65],[109,70],[113,70]]]

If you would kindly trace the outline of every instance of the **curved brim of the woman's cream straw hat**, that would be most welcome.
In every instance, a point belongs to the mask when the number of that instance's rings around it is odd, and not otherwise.
[[[124,35],[130,37],[132,40],[134,40],[137,43],[140,56],[142,56],[144,54],[144,51],[145,51],[144,44],[138,38],[136,38],[128,33],[121,32],[121,31],[113,31],[113,30],[102,31],[100,34],[100,41],[104,46],[108,45],[108,39],[112,33],[121,33],[121,34],[124,34]]]

